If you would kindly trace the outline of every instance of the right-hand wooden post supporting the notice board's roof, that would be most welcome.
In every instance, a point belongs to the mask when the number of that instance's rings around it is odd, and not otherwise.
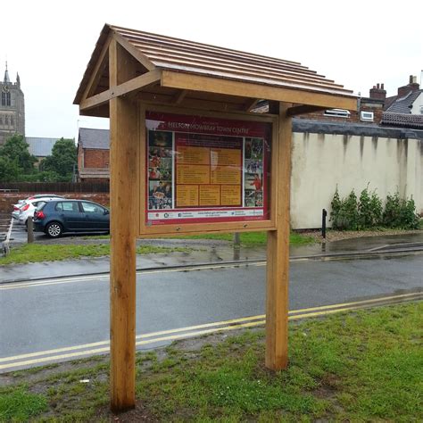
[[[266,367],[286,369],[288,363],[289,194],[291,181],[291,104],[279,104],[277,230],[268,232],[266,293]],[[273,173],[273,170],[272,170]]]

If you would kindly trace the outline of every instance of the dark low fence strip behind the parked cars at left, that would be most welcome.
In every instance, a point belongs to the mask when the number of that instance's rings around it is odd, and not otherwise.
[[[108,182],[2,182],[0,192],[108,193]]]

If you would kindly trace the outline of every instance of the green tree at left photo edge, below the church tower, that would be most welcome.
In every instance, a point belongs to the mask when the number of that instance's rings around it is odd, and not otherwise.
[[[21,135],[16,134],[7,138],[3,147],[0,147],[0,158],[3,159],[1,180],[7,179],[7,182],[10,182],[20,179],[25,174],[34,173],[37,157],[29,153],[28,147],[25,138]]]

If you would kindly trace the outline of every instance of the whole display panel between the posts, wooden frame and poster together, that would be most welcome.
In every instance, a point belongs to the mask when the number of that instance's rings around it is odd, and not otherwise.
[[[139,236],[275,227],[276,117],[140,109]]]

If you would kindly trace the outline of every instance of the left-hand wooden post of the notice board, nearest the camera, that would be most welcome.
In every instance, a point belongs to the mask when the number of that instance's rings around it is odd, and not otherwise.
[[[110,86],[135,76],[128,54],[112,39]],[[137,104],[110,101],[111,203],[111,409],[135,406],[136,236],[138,126]]]

